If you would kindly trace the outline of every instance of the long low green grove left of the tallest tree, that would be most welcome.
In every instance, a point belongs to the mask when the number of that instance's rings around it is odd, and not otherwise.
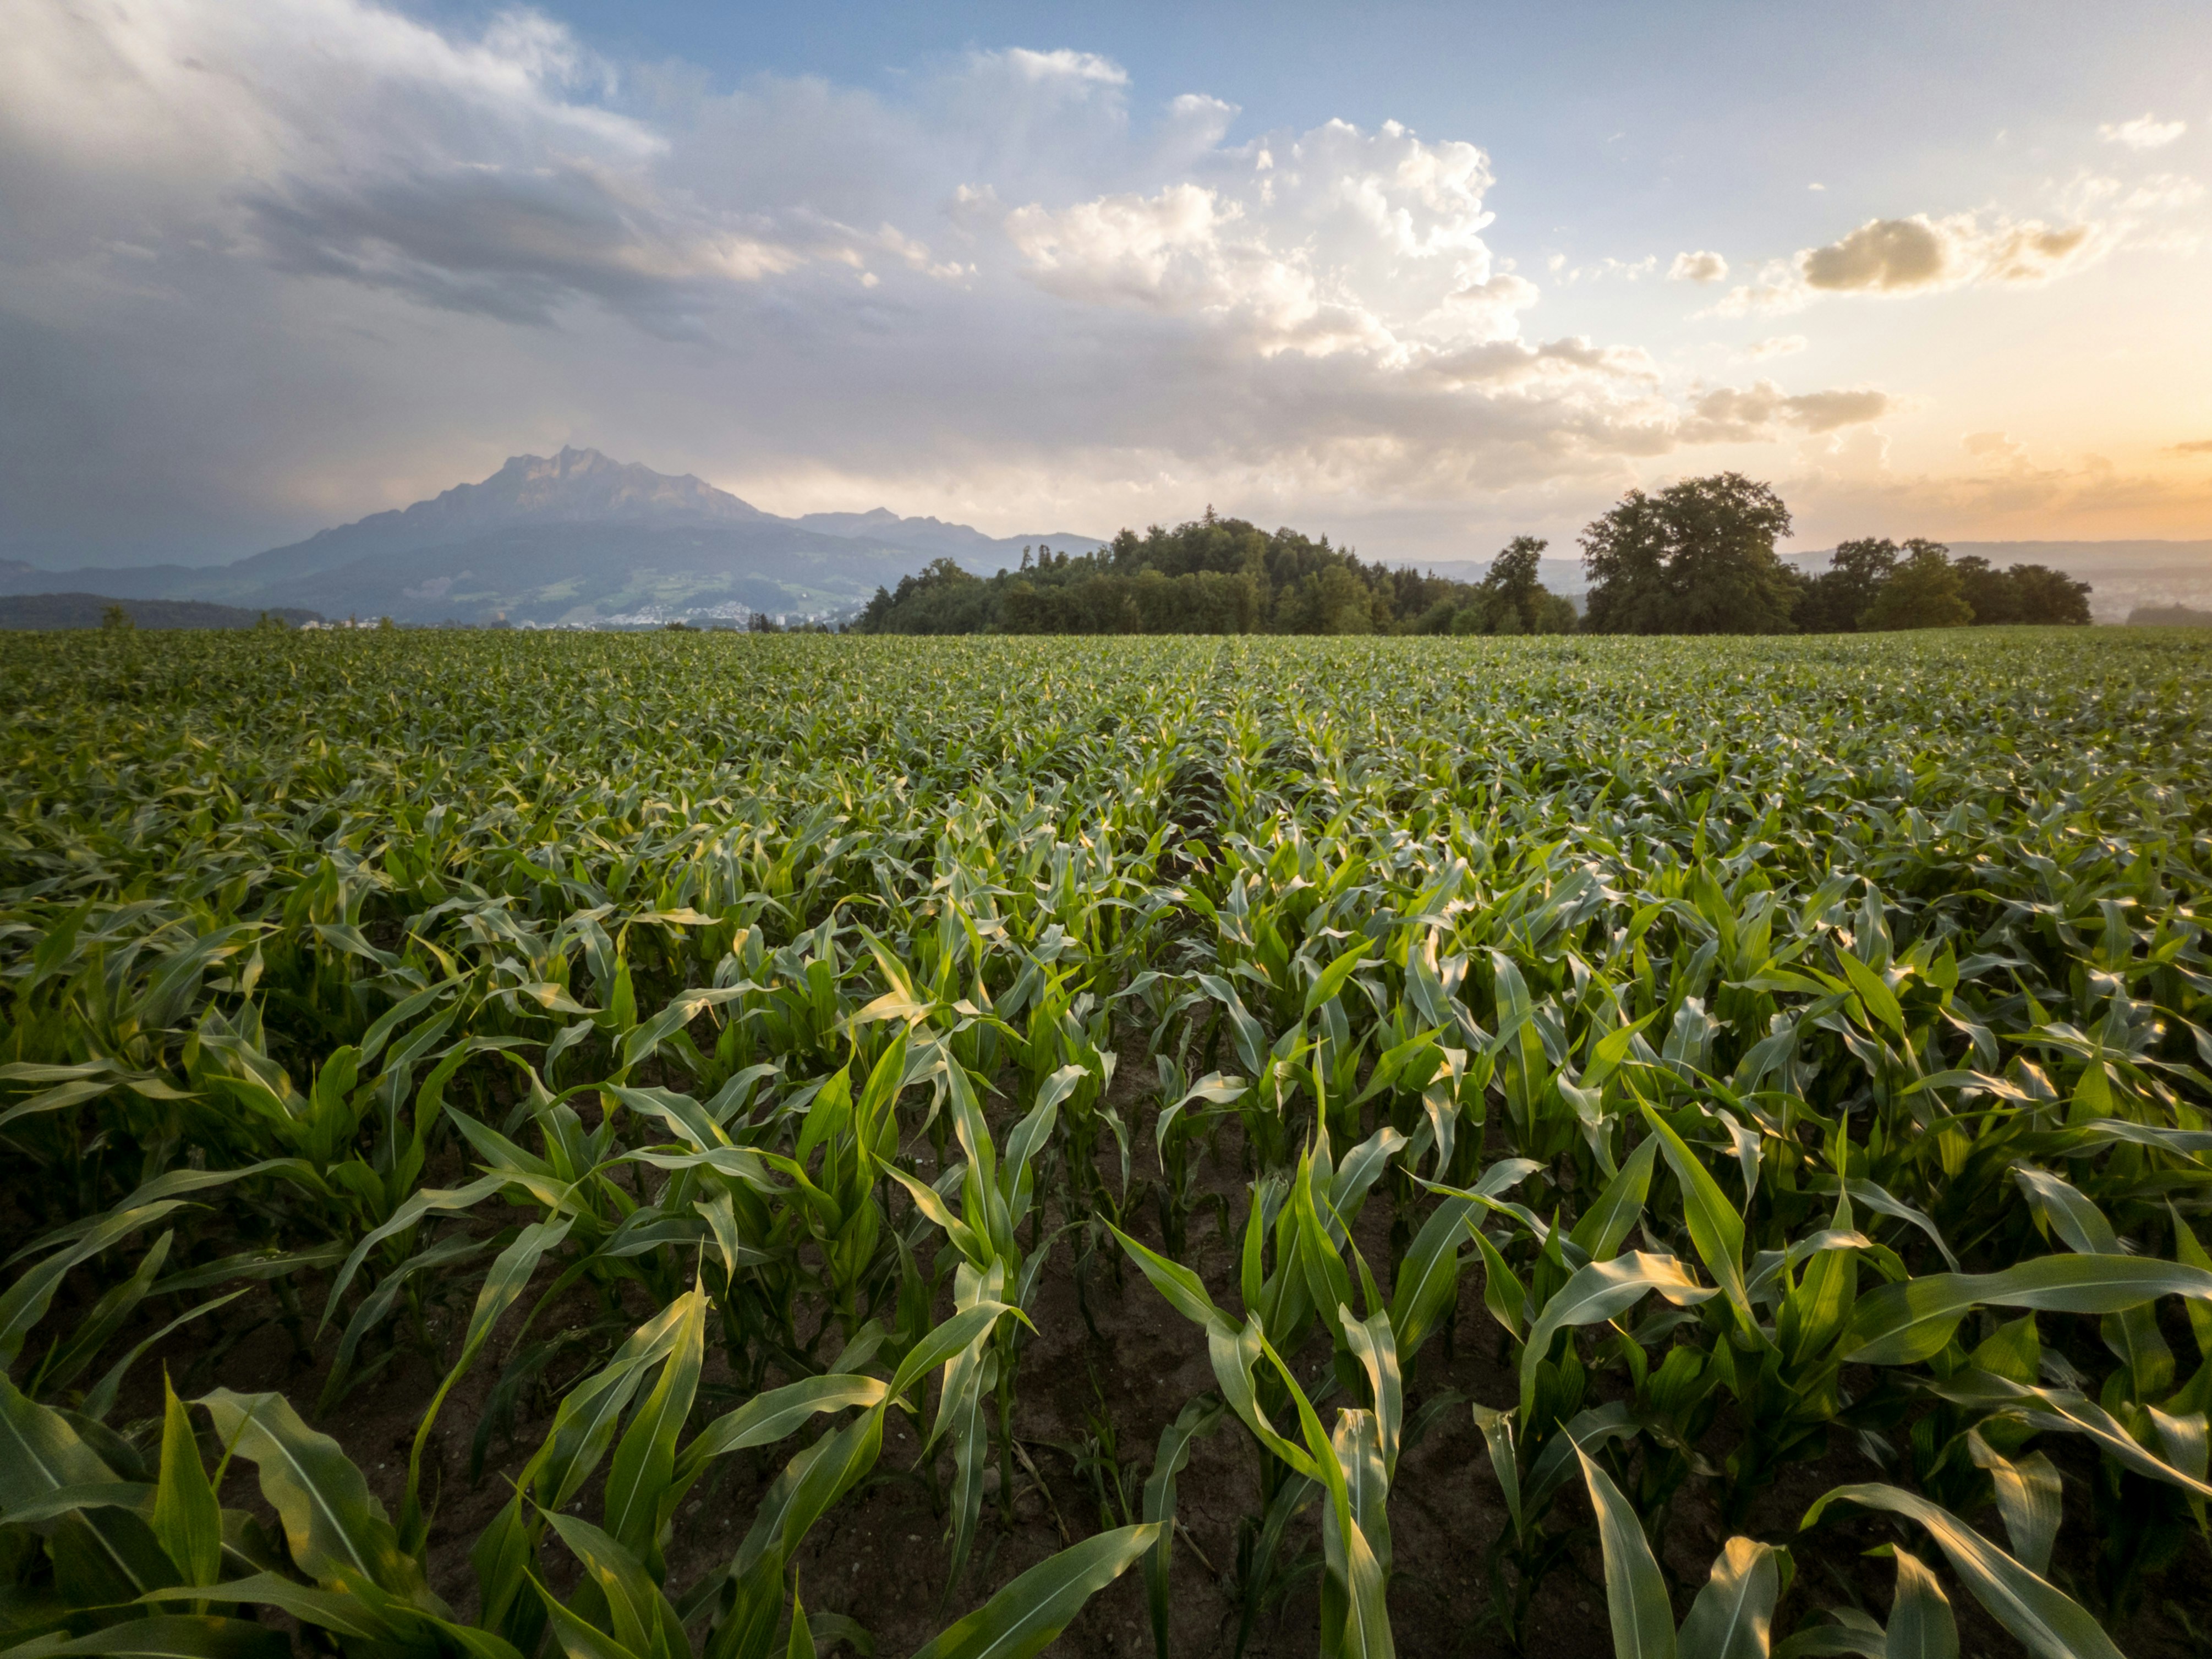
[[[1535,580],[1544,544],[1522,538],[1482,582],[1363,562],[1298,531],[1241,518],[1121,531],[1095,553],[1022,549],[973,575],[931,560],[876,597],[856,633],[1559,633],[1571,602]]]

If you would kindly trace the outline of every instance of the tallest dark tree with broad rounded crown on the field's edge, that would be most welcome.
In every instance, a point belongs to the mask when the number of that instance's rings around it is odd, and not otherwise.
[[[1743,473],[1628,491],[1582,533],[1590,633],[1792,633],[1790,509]]]

